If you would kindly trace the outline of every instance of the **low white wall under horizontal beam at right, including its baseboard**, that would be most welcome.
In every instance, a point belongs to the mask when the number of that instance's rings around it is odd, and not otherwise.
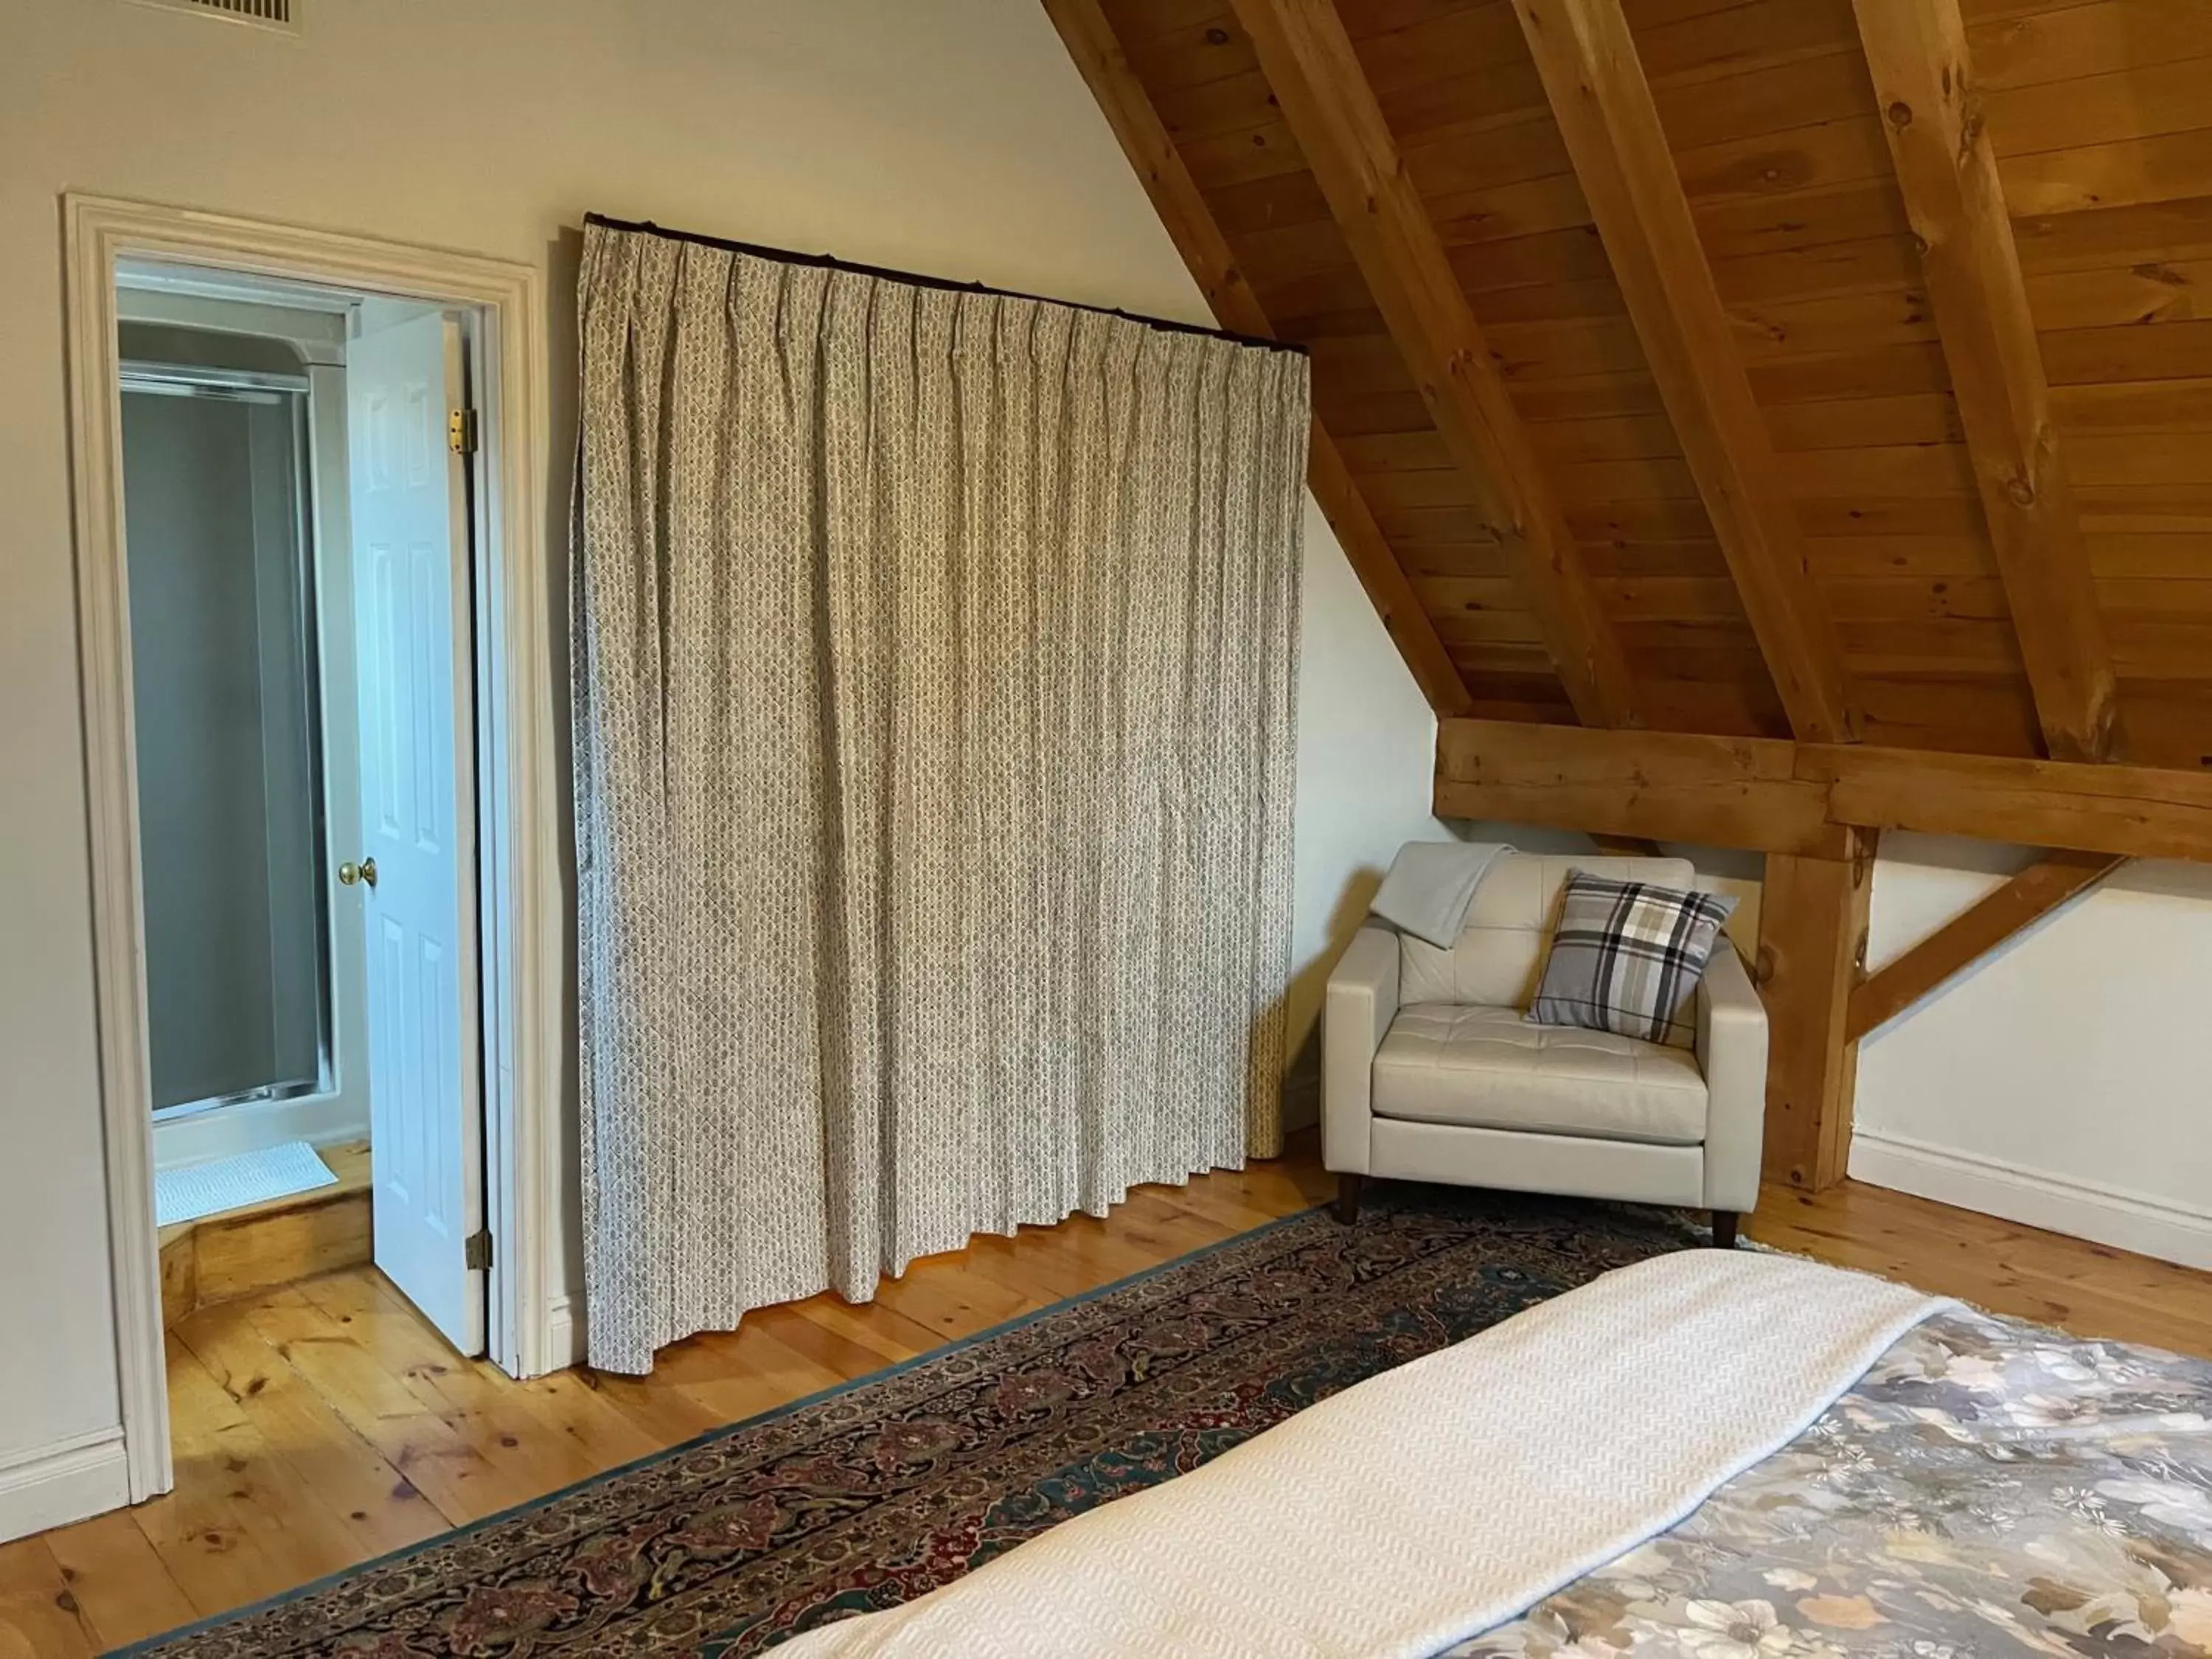
[[[1869,967],[2035,854],[1885,836]],[[2212,869],[2135,863],[1858,1055],[1851,1175],[2212,1267]]]

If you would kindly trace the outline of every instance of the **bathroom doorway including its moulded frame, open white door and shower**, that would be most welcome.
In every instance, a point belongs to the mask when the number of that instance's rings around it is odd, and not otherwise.
[[[137,1502],[173,1484],[157,1168],[303,1152],[274,1203],[363,1168],[425,1323],[518,1378],[575,1360],[544,307],[473,254],[75,195],[64,226]]]

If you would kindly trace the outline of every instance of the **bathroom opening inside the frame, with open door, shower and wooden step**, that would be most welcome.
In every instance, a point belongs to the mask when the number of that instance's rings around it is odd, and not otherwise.
[[[164,1321],[374,1259],[482,1354],[482,321],[161,261],[115,314]]]

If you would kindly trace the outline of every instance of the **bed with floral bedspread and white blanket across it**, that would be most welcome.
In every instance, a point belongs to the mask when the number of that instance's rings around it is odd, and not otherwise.
[[[2212,1363],[1679,1252],[783,1652],[2212,1655]]]

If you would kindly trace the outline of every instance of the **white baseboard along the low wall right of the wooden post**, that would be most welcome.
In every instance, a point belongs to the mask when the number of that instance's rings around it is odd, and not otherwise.
[[[1869,1128],[1851,1135],[1851,1179],[2183,1267],[2212,1267],[2212,1210],[2148,1192],[2024,1170]]]

